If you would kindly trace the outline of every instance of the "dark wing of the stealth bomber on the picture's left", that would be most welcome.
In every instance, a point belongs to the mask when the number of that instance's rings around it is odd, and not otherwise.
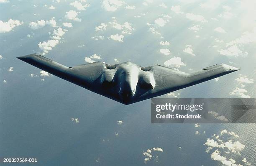
[[[17,58],[92,92],[119,101],[118,94],[113,94],[113,88],[108,89],[102,86],[101,76],[105,68],[104,63],[94,62],[67,67],[39,54],[30,54]]]

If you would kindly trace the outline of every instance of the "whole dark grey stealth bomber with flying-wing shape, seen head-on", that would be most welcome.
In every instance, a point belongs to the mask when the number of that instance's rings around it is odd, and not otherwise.
[[[129,61],[115,65],[95,62],[67,67],[39,54],[18,59],[125,105],[239,70],[226,64],[215,64],[189,74],[160,65],[138,66]]]

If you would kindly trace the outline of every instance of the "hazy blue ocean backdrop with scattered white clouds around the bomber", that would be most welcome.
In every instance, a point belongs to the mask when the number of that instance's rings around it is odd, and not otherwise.
[[[16,59],[38,53],[65,66],[132,61],[188,73],[224,63],[241,70],[161,97],[256,98],[255,6],[0,0],[0,157],[37,157],[38,165],[255,165],[256,135],[244,130],[253,124],[151,124],[150,100],[125,106]]]

